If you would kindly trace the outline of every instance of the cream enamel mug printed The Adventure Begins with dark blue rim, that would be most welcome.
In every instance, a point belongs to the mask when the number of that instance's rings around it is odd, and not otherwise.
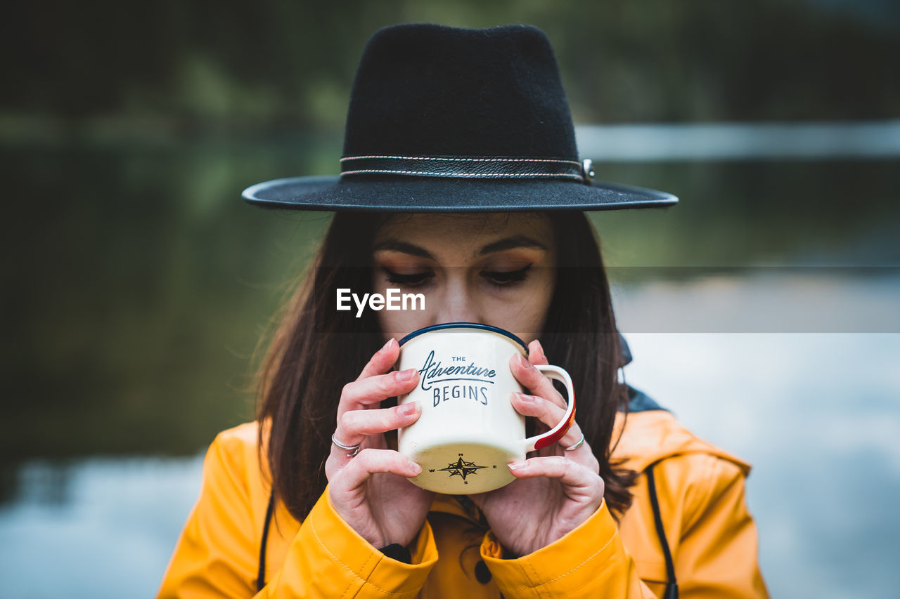
[[[472,495],[504,487],[515,477],[507,464],[525,460],[559,441],[575,419],[572,378],[559,366],[536,364],[568,393],[559,424],[526,438],[525,416],[512,407],[514,391],[524,392],[509,370],[509,358],[527,357],[527,345],[496,326],[454,322],[427,326],[400,341],[398,370],[415,368],[419,385],[398,398],[419,401],[419,420],[398,432],[398,451],[422,467],[410,480],[447,495]]]

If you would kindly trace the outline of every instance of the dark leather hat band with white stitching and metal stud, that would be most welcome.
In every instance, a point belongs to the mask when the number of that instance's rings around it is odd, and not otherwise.
[[[562,158],[478,158],[473,156],[344,156],[341,176],[399,174],[473,179],[559,178],[589,183],[590,160]]]

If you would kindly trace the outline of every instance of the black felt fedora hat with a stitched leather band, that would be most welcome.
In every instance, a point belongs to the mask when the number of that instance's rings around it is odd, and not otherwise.
[[[365,47],[340,175],[257,183],[251,204],[293,210],[472,212],[671,206],[671,193],[594,179],[553,49],[528,25],[403,24]]]

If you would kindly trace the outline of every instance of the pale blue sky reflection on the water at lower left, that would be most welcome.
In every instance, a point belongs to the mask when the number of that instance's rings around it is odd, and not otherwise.
[[[202,460],[43,461],[0,508],[4,597],[149,597],[200,490]]]

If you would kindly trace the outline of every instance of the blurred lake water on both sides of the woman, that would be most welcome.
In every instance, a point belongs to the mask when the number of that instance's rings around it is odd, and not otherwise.
[[[330,139],[0,147],[0,596],[154,594],[202,451],[252,418],[257,341],[329,221],[238,194],[338,156]],[[772,595],[896,596],[900,156],[597,167],[681,198],[591,215],[626,378],[753,463]]]

